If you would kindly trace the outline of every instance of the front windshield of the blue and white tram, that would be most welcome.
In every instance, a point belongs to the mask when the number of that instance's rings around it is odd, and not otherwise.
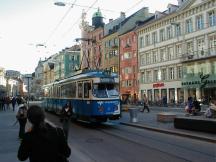
[[[118,97],[119,93],[117,91],[115,84],[93,84],[93,95],[98,98],[114,98]]]

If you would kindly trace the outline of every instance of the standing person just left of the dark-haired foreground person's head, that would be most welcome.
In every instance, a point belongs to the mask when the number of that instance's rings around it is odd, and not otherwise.
[[[23,139],[23,135],[25,133],[25,126],[27,122],[27,107],[24,105],[24,103],[21,103],[18,107],[18,111],[16,114],[16,118],[19,122],[19,139]]]

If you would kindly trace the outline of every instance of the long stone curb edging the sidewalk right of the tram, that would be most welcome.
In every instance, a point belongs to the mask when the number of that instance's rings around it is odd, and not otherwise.
[[[182,133],[182,132],[178,132],[178,131],[167,130],[167,129],[162,129],[162,128],[155,128],[155,127],[150,127],[150,126],[141,125],[141,124],[133,124],[133,123],[128,123],[128,122],[120,122],[120,124],[132,126],[132,127],[137,127],[137,128],[143,128],[143,129],[156,131],[156,132],[160,132],[160,133],[172,134],[172,135],[177,135],[177,136],[181,136],[181,137],[188,137],[188,138],[193,138],[193,139],[197,139],[197,140],[216,143],[216,139],[208,138],[208,137],[204,137],[204,136],[199,136],[199,135],[192,135],[192,134],[185,133],[185,132]]]

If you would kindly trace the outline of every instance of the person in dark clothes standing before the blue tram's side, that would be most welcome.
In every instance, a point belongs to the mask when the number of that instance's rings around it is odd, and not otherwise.
[[[62,127],[65,133],[66,139],[68,139],[71,115],[72,115],[72,108],[71,108],[70,102],[68,102],[63,106],[62,112],[61,112]]]

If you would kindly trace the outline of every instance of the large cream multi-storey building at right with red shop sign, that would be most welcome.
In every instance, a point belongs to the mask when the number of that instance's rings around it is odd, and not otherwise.
[[[140,96],[168,103],[200,98],[197,76],[215,76],[215,29],[215,0],[178,0],[178,6],[155,12],[154,20],[137,29]],[[193,88],[186,85],[188,79],[196,80]]]

